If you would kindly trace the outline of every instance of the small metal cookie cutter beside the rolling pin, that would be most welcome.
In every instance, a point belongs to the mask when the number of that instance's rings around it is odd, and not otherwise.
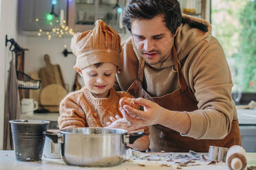
[[[217,160],[219,162],[225,162],[227,151],[228,151],[228,148],[226,148],[226,147],[210,146],[209,147],[209,160]]]

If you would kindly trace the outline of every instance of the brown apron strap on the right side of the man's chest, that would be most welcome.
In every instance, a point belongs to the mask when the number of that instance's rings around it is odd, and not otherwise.
[[[178,80],[179,80],[180,88],[181,88],[182,92],[184,92],[184,91],[186,91],[188,86],[186,85],[186,81],[184,79],[184,76],[182,75],[181,66],[179,64],[180,62],[178,62],[177,51],[176,51],[176,48],[174,45],[173,45],[172,53],[173,53],[173,60],[175,63],[175,68],[178,73]]]

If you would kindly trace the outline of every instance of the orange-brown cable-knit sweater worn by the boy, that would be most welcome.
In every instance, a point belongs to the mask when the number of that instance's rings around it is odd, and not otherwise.
[[[70,127],[105,127],[109,117],[122,117],[119,100],[131,97],[126,92],[110,89],[109,97],[96,98],[87,88],[69,93],[60,104],[58,126],[61,130]],[[144,128],[148,134],[148,128]]]

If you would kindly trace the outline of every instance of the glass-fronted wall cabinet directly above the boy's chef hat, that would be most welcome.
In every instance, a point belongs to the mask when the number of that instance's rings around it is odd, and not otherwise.
[[[74,0],[68,3],[68,25],[74,32],[85,32],[94,28],[97,19],[102,19],[116,32],[125,34],[120,23],[126,0]]]

